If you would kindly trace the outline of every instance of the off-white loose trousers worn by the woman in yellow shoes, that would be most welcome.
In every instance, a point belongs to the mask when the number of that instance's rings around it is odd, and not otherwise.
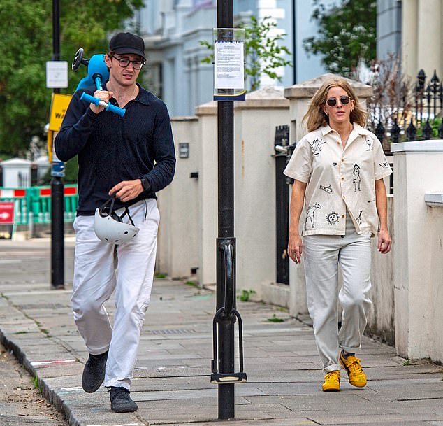
[[[371,301],[370,234],[357,234],[347,215],[345,236],[303,237],[307,308],[325,373],[340,370],[340,348],[355,353],[367,323]],[[343,284],[339,292],[338,270]],[[338,330],[338,301],[342,326]]]

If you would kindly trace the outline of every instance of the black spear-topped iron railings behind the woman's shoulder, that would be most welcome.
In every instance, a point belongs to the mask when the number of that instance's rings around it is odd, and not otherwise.
[[[368,101],[368,127],[384,150],[390,150],[390,143],[443,139],[443,86],[436,71],[428,84],[421,69],[414,85],[391,81],[388,86],[375,85],[376,95]],[[394,94],[389,98],[383,90]]]

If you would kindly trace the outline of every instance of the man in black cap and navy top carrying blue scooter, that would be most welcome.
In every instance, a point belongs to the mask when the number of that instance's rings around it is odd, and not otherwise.
[[[127,413],[138,408],[129,389],[154,274],[159,223],[155,193],[173,179],[175,150],[166,106],[136,83],[146,60],[143,39],[130,33],[113,36],[104,60],[108,82],[103,90],[87,87],[73,95],[55,152],[64,162],[78,155],[71,303],[89,352],[82,387],[95,392],[104,381],[112,411]],[[82,92],[125,108],[125,115],[81,101]],[[115,213],[122,215],[129,208],[140,229],[119,245],[103,242],[94,233],[96,208],[110,196],[115,196]],[[104,304],[114,290],[111,327]]]

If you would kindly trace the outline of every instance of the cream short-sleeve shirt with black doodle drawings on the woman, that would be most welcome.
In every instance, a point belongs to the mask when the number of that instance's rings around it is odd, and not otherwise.
[[[308,133],[284,169],[286,176],[307,183],[302,235],[344,235],[346,211],[358,234],[376,235],[375,180],[391,173],[377,136],[356,123],[344,149],[329,126]]]

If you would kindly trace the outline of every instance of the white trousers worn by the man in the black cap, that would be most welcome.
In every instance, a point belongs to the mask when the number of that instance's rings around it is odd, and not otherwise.
[[[129,212],[140,231],[132,241],[118,246],[97,238],[94,216],[75,218],[71,297],[75,324],[88,352],[98,355],[109,350],[103,384],[126,389],[131,387],[140,331],[150,301],[159,225],[155,199],[138,201]],[[112,327],[103,305],[114,290]]]

